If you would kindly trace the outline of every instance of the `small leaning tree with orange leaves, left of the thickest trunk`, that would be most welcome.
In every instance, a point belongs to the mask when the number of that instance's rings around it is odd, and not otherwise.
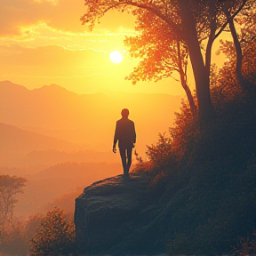
[[[132,84],[136,84],[140,79],[157,82],[170,76],[179,81],[172,76],[173,73],[178,73],[191,112],[196,115],[196,104],[188,87],[187,45],[177,39],[172,30],[165,26],[163,20],[152,12],[143,12],[138,16],[135,30],[139,35],[126,37],[124,44],[129,47],[132,57],[139,57],[142,60],[125,79],[132,80]]]

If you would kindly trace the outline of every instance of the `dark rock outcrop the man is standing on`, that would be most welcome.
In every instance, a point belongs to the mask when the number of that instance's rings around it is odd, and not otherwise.
[[[149,253],[150,239],[142,234],[141,227],[157,216],[158,209],[152,206],[148,183],[147,174],[130,173],[128,180],[120,175],[84,188],[84,193],[76,198],[79,251],[112,255]]]

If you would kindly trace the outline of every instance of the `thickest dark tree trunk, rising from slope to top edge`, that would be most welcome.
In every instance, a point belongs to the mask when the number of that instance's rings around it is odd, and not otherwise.
[[[196,83],[196,96],[198,100],[198,114],[202,122],[214,116],[214,109],[210,96],[210,81],[204,67],[204,60],[196,34],[196,20],[189,7],[188,0],[179,0],[182,31],[193,68]]]

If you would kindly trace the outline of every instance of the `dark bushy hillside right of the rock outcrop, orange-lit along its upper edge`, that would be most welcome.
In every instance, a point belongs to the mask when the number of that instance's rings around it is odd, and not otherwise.
[[[165,232],[162,239],[168,241],[170,254],[228,253],[237,237],[253,231],[256,95],[244,92],[237,83],[234,48],[223,44],[230,60],[221,69],[213,66],[211,76],[216,117],[200,124],[183,102],[170,139],[160,136],[156,145],[148,147],[154,163],[149,172],[155,176],[165,216],[158,225]],[[244,53],[244,61],[247,58],[255,60],[253,54]],[[239,253],[254,246],[241,241],[244,247],[237,247]]]

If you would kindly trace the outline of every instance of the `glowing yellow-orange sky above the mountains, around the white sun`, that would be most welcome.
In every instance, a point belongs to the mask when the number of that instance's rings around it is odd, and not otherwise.
[[[125,54],[123,43],[124,36],[134,34],[134,17],[110,11],[90,32],[79,20],[84,10],[84,0],[0,1],[0,81],[28,89],[59,84],[79,94],[184,94],[172,78],[157,84],[125,81],[138,63]],[[109,60],[114,50],[124,53],[119,64]],[[193,80],[188,82],[193,86]]]

